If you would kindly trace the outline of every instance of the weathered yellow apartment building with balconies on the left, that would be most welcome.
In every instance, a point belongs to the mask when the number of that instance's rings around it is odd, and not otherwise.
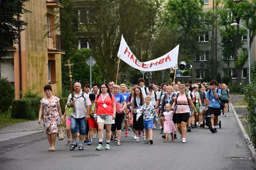
[[[10,55],[1,56],[4,63],[0,63],[0,75],[13,83],[16,99],[20,98],[20,91],[33,84],[41,96],[47,84],[52,86],[53,94],[61,94],[61,54],[65,51],[60,31],[52,29],[58,22],[54,19],[56,10],[63,8],[61,0],[30,0],[24,8],[31,12],[20,20],[28,26],[20,32],[20,43],[6,48]]]

